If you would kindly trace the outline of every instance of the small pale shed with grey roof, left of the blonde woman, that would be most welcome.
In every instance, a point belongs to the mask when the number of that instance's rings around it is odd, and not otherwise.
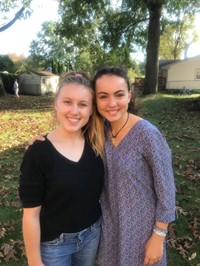
[[[19,75],[21,94],[46,95],[55,93],[59,76],[49,71],[29,71]]]

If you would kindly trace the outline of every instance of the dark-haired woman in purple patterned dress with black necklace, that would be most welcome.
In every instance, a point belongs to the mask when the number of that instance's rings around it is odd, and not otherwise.
[[[175,219],[168,144],[154,125],[129,110],[130,84],[123,70],[98,71],[93,87],[107,125],[97,265],[167,265],[165,236]]]

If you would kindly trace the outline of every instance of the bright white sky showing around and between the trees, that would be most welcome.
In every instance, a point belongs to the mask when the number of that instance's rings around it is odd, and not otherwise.
[[[26,20],[16,21],[10,28],[0,32],[0,54],[29,55],[29,45],[36,39],[37,33],[41,30],[44,21],[56,20],[58,3],[56,0],[34,0],[33,14]],[[200,35],[200,14],[196,19],[196,30]],[[188,50],[188,57],[200,55],[200,40],[191,45]],[[134,57],[142,61],[142,55]]]

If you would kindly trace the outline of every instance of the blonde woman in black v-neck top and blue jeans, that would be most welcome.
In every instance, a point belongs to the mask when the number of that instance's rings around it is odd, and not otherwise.
[[[29,266],[95,263],[104,167],[93,97],[84,73],[62,77],[54,103],[59,125],[24,155],[19,195]]]

